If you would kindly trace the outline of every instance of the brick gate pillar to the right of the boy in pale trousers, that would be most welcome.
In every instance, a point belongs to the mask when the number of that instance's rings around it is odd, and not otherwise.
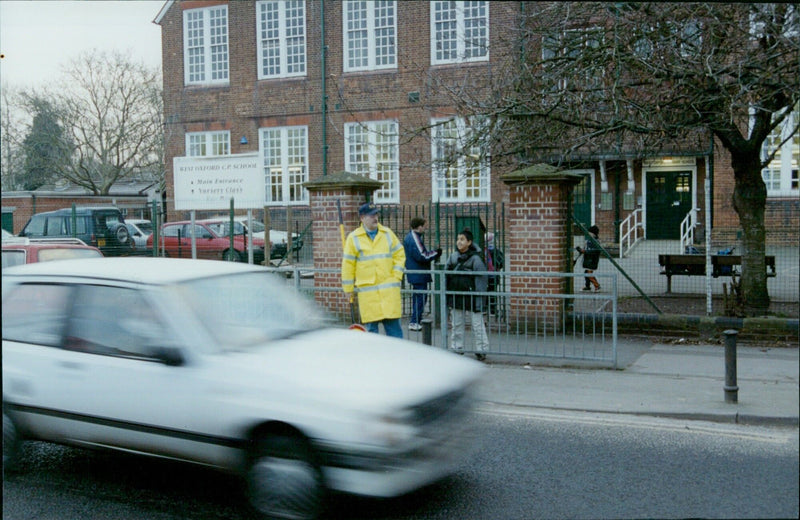
[[[509,266],[510,316],[546,316],[562,323],[563,299],[569,287],[563,276],[514,276],[514,273],[572,272],[567,250],[572,188],[581,181],[548,164],[536,164],[502,176],[508,186],[506,263]],[[514,293],[517,293],[515,295]],[[537,294],[538,297],[522,296]],[[531,315],[531,316],[528,316]]]

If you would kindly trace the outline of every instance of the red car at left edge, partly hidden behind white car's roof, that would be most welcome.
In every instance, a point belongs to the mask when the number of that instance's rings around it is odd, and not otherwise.
[[[3,269],[36,262],[102,256],[99,249],[87,246],[77,238],[3,237]]]

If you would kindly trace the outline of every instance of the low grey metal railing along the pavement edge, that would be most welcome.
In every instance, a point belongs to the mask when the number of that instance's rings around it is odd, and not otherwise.
[[[341,295],[340,287],[315,287],[315,276],[337,277],[337,270],[302,268],[300,266],[274,268],[283,274],[287,283],[309,298],[336,300]],[[418,271],[411,271],[418,272]],[[433,282],[427,291],[426,312],[423,322],[428,330],[410,331],[407,327],[411,299],[415,291],[402,289],[404,336],[412,341],[427,343],[438,348],[450,344],[450,316],[447,295],[456,294],[446,290],[443,270],[434,270]],[[489,274],[489,273],[477,273]],[[471,293],[490,299],[490,312],[484,313],[484,323],[489,336],[490,356],[525,356],[557,360],[592,361],[616,368],[617,366],[617,308],[615,274],[601,274],[598,279],[604,286],[601,293],[549,294],[536,290],[521,290],[521,287],[537,283],[562,283],[578,275],[570,273],[491,273],[500,278],[498,290]],[[513,288],[513,289],[512,289]],[[327,294],[325,294],[327,293]],[[332,294],[331,294],[332,293]],[[328,309],[332,319],[341,326],[351,324],[346,298],[339,305]],[[356,316],[358,314],[356,313]],[[429,331],[429,332],[428,332]],[[427,335],[430,338],[427,338]],[[465,333],[464,350],[475,353],[474,337]]]

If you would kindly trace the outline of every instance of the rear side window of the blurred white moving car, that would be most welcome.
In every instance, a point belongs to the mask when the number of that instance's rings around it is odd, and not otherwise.
[[[3,340],[61,345],[73,289],[69,285],[21,284],[3,297]]]

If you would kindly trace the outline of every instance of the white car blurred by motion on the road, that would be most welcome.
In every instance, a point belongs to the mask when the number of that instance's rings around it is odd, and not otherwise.
[[[332,327],[261,266],[128,257],[3,272],[3,467],[19,441],[240,472],[261,514],[451,473],[484,367]]]

